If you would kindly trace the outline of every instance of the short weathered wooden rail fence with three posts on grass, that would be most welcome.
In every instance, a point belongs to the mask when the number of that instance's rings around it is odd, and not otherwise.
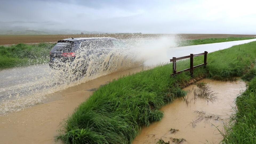
[[[193,77],[193,69],[201,67],[201,66],[204,66],[204,68],[206,67],[206,65],[207,65],[207,54],[208,54],[208,52],[205,51],[204,53],[201,53],[201,54],[190,54],[188,56],[179,57],[179,58],[173,57],[173,59],[170,59],[170,62],[173,62],[173,73],[171,75],[176,75],[176,74],[179,74],[179,73],[190,70],[190,76]],[[200,55],[204,55],[203,63],[200,64],[200,65],[197,65],[197,66],[193,66],[194,57],[198,57]],[[190,68],[176,72],[176,61],[181,60],[181,59],[186,59],[186,58],[190,58]]]

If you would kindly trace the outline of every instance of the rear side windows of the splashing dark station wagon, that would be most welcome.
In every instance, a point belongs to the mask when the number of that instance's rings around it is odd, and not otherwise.
[[[113,43],[110,40],[96,40],[81,42],[81,49],[109,49],[113,47]]]

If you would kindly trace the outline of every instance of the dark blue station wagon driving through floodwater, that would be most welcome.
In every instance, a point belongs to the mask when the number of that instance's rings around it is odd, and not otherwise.
[[[68,38],[59,40],[50,51],[49,66],[58,69],[71,63],[79,55],[86,59],[90,54],[98,55],[113,49],[126,49],[126,43],[115,38]],[[85,53],[86,51],[86,53]]]

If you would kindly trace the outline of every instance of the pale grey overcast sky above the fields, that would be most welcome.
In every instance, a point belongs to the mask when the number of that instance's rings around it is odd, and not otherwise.
[[[3,0],[0,29],[256,34],[255,6],[255,0]]]

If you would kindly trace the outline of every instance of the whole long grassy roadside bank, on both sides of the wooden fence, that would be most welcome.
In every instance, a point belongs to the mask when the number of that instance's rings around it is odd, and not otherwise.
[[[256,42],[209,53],[206,69],[195,69],[195,77],[233,80],[251,69],[255,58]],[[194,65],[202,62],[203,57],[194,59]],[[187,67],[189,60],[177,62],[178,70]],[[65,143],[131,143],[142,126],[162,118],[160,107],[185,95],[181,86],[191,79],[189,73],[170,77],[171,71],[171,64],[158,66],[100,87],[70,115],[58,138]]]

